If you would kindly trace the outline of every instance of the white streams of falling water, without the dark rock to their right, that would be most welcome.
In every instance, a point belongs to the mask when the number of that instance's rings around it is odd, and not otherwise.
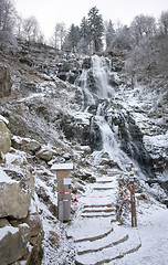
[[[85,109],[83,110],[93,115],[90,119],[90,128],[92,145],[94,146],[92,149],[95,149],[95,157],[98,156],[99,147],[102,147],[102,150],[107,152],[111,159],[123,168],[123,165],[128,163],[129,158],[119,148],[116,130],[113,130],[105,119],[105,109],[115,93],[109,85],[109,65],[107,59],[94,55],[91,59],[91,67],[83,70],[78,81],[85,98]],[[97,139],[99,138],[97,134],[101,135],[102,141],[98,145]]]

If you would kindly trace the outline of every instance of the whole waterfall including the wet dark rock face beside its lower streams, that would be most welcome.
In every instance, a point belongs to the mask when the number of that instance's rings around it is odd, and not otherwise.
[[[83,65],[77,80],[83,94],[81,113],[88,116],[88,141],[95,159],[106,152],[122,169],[130,159],[147,166],[150,157],[143,146],[141,134],[129,113],[115,102],[115,89],[109,84],[111,77],[115,82],[117,76],[111,72],[108,60],[93,55]]]

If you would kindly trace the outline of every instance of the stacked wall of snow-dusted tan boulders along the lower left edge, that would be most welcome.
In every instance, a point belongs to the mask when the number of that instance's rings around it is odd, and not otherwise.
[[[0,162],[4,166],[6,159],[9,159],[13,165],[10,169],[0,166],[0,264],[21,264],[18,262],[21,259],[27,261],[28,265],[40,265],[43,229],[34,202],[34,180],[27,170],[24,174],[18,172],[24,167],[24,161],[19,156],[8,153],[11,132],[6,121],[0,116],[0,152],[3,152]],[[30,150],[39,149],[35,141],[29,144]]]

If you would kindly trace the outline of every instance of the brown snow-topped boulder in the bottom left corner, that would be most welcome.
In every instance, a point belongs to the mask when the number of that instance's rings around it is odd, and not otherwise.
[[[27,254],[27,243],[30,240],[28,224],[19,227],[7,225],[0,229],[0,263],[7,265],[17,262]]]

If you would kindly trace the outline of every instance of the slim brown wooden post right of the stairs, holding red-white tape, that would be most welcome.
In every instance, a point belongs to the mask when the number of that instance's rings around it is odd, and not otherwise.
[[[132,226],[137,227],[137,218],[136,218],[136,203],[135,203],[135,176],[132,172],[133,163],[130,163],[130,176],[129,176],[129,182],[130,182],[130,204],[132,204]]]

